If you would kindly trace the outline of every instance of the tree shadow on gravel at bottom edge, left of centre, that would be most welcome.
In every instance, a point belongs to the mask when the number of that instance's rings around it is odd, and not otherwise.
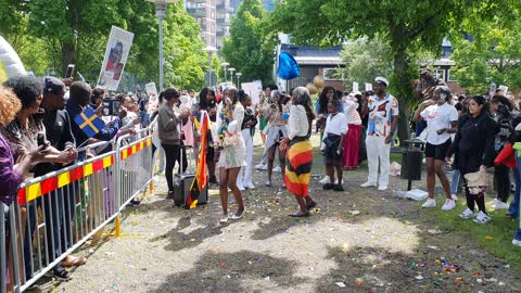
[[[266,292],[292,288],[296,264],[251,251],[208,252],[189,271],[167,277],[150,292]]]

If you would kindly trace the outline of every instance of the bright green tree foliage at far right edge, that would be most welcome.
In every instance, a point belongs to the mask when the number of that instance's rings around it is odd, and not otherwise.
[[[462,23],[466,34],[452,38],[450,58],[456,61],[452,73],[469,93],[486,93],[492,82],[506,85],[509,91],[521,89],[519,8],[510,8],[508,14],[498,14],[492,20],[472,15]]]

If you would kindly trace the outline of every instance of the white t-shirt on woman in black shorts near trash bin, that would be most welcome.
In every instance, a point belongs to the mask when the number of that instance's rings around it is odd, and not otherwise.
[[[430,105],[420,115],[427,122],[427,142],[434,145],[440,145],[450,138],[450,133],[447,133],[447,131],[442,135],[436,131],[443,128],[452,128],[450,123],[458,120],[458,111],[448,103]]]

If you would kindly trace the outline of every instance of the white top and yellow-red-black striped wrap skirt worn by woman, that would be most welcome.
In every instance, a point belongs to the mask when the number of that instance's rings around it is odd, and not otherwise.
[[[297,196],[309,194],[312,177],[313,146],[309,143],[310,128],[304,106],[290,106],[288,120],[288,151],[285,154],[284,183],[288,191]]]

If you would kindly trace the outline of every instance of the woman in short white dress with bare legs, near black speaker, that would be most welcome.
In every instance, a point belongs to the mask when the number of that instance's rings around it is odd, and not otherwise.
[[[233,198],[239,205],[237,213],[231,219],[240,219],[244,216],[245,208],[242,201],[242,194],[237,187],[237,176],[241,167],[245,166],[245,146],[241,133],[241,125],[244,119],[244,107],[239,102],[239,92],[231,88],[225,91],[223,98],[225,106],[219,113],[220,127],[218,130],[220,151],[219,168],[220,176],[220,203],[223,205],[223,217],[219,222],[228,221],[228,188],[231,189]]]

